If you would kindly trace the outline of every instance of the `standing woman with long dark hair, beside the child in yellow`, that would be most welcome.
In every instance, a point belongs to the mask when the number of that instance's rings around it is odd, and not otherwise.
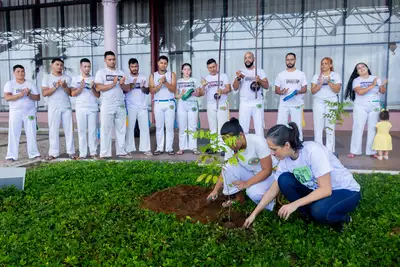
[[[368,121],[367,144],[365,154],[377,158],[372,149],[376,134],[375,125],[379,121],[380,95],[386,93],[387,80],[383,83],[373,76],[367,64],[358,63],[350,76],[346,87],[345,99],[350,98],[353,106],[353,132],[351,134],[349,158],[362,154],[362,136]]]

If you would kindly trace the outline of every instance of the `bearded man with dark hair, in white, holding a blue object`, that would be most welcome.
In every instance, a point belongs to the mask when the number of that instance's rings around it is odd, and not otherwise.
[[[286,55],[286,70],[278,74],[275,80],[275,93],[280,96],[277,124],[288,124],[291,121],[299,127],[300,140],[303,140],[302,114],[304,94],[307,92],[307,79],[304,72],[296,69],[296,55]]]

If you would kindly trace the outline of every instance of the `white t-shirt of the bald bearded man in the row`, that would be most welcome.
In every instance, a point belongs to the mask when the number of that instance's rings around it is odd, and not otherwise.
[[[256,80],[256,69],[240,69],[240,72],[245,76],[243,79],[240,80],[239,85],[239,93],[240,93],[240,101],[251,101],[257,100],[257,102],[262,102],[263,100],[263,88],[261,87],[260,90],[257,92],[257,99],[256,95],[250,89],[250,85]],[[260,76],[260,80],[265,79],[267,75],[265,74],[263,69],[257,68],[257,75]],[[236,77],[235,77],[236,80]],[[233,82],[235,82],[235,80]],[[232,82],[232,84],[233,84]],[[233,90],[233,92],[237,92]]]

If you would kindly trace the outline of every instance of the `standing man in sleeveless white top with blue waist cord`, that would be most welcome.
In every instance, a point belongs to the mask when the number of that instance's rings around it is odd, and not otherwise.
[[[168,155],[174,155],[174,122],[175,122],[175,92],[176,75],[167,71],[168,58],[158,58],[158,71],[150,75],[150,92],[154,94],[154,115],[156,119],[157,149],[154,155],[160,155],[164,151],[164,125],[165,125],[165,151]]]

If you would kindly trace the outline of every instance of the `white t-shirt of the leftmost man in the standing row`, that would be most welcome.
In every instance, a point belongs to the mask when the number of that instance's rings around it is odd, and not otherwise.
[[[25,88],[30,89],[32,95],[40,94],[36,85],[27,80],[25,80],[23,83],[17,83],[16,80],[11,80],[6,82],[6,84],[4,85],[4,93],[11,93],[12,95],[17,95],[22,91],[24,91]],[[35,101],[30,99],[26,95],[18,100],[8,101],[8,104],[10,105],[10,110],[13,111],[29,112],[33,109],[36,111]]]

